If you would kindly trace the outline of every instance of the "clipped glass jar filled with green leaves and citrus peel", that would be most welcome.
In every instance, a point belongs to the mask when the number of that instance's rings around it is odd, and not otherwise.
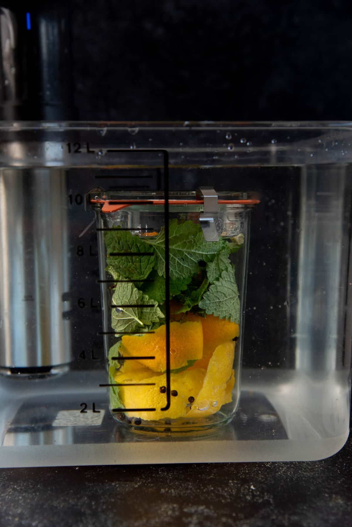
[[[162,192],[99,190],[91,203],[114,418],[158,433],[227,423],[239,401],[250,213],[258,201],[213,189],[170,192],[165,217]]]

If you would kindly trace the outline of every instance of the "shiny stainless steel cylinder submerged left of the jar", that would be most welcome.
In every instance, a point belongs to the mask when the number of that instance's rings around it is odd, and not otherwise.
[[[71,361],[65,171],[0,170],[0,225],[0,372],[61,372]]]

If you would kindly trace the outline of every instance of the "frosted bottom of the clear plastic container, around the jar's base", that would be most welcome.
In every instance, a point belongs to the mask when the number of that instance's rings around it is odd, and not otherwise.
[[[348,437],[348,372],[245,370],[236,414],[209,435],[131,432],[111,416],[101,376],[69,372],[25,392],[25,380],[3,379],[0,466],[314,461]]]

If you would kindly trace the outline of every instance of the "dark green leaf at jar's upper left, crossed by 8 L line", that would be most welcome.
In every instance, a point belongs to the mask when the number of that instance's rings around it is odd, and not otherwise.
[[[106,231],[104,238],[107,249],[106,264],[111,275],[111,270],[114,270],[123,278],[131,280],[144,280],[149,275],[155,263],[154,255],[109,256],[114,252],[153,252],[151,247],[141,240],[139,236],[133,236],[129,231],[116,228]]]

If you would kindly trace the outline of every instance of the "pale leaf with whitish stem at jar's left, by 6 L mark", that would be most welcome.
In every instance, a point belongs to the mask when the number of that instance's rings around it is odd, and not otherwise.
[[[160,318],[164,318],[158,302],[139,291],[131,282],[120,282],[116,285],[112,305],[142,306],[112,308],[111,325],[116,334],[139,329],[143,333],[145,326],[150,326],[154,322],[159,322]],[[147,305],[153,305],[153,307],[146,307]]]

